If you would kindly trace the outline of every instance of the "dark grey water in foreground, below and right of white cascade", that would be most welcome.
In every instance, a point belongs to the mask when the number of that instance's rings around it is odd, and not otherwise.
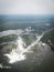
[[[44,53],[45,52],[45,53]],[[13,64],[19,72],[54,72],[54,52],[26,53],[26,60]]]

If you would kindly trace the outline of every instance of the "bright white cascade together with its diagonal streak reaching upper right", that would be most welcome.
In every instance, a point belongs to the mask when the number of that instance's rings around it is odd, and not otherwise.
[[[32,44],[30,44],[26,49],[24,48],[25,43],[23,42],[22,38],[19,37],[17,40],[18,48],[13,49],[10,53],[4,54],[6,56],[8,56],[10,59],[9,63],[14,63],[17,61],[25,60],[26,56],[25,56],[24,52],[28,52],[29,49],[31,49],[32,47],[37,44],[42,37],[43,37],[43,34],[40,35],[37,38],[37,40],[34,41]]]

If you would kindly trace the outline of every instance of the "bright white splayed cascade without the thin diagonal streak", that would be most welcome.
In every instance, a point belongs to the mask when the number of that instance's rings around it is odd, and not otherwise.
[[[25,55],[21,54],[25,50],[23,47],[25,45],[25,43],[23,42],[21,37],[18,38],[17,44],[18,44],[17,49],[13,49],[10,53],[4,54],[10,59],[9,63],[14,63],[17,61],[21,61],[25,59]]]

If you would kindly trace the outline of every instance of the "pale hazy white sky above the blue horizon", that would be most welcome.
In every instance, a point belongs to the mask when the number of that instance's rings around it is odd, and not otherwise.
[[[54,13],[54,0],[0,0],[0,14]]]

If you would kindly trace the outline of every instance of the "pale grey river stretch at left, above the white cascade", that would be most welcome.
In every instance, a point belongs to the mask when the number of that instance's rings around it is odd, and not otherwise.
[[[6,31],[1,31],[0,32],[0,38],[2,37],[7,37],[7,35],[11,35],[11,34],[17,34],[20,35],[22,34],[24,31],[22,29],[18,29],[18,30],[6,30]]]

